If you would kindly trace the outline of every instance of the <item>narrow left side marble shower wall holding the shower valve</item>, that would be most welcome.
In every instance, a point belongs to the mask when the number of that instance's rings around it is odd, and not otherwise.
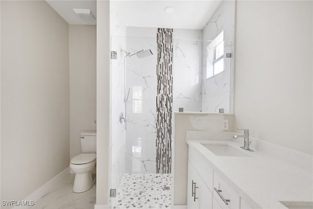
[[[126,47],[125,28],[121,27],[118,4],[111,5],[111,49],[117,52],[117,59],[111,60],[111,188],[119,188],[125,174],[125,123],[120,124],[119,114],[124,107],[124,57]]]

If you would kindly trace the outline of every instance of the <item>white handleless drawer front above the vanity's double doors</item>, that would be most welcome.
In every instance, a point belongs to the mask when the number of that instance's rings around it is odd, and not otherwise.
[[[200,174],[204,184],[213,193],[213,168],[199,151],[189,146],[188,160]]]

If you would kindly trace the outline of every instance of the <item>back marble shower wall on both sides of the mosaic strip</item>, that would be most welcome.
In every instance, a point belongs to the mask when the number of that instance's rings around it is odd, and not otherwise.
[[[157,28],[126,27],[125,51],[151,49],[154,54],[126,58],[126,173],[156,172],[156,34]],[[197,40],[202,32],[174,29],[173,37],[173,111],[200,111],[202,43]]]

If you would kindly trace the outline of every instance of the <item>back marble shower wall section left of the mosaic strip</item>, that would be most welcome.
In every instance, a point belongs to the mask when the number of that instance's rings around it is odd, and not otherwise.
[[[126,172],[156,172],[156,28],[127,27],[126,51],[150,49],[153,55],[126,58],[129,90],[126,130]],[[152,38],[143,38],[152,37]]]

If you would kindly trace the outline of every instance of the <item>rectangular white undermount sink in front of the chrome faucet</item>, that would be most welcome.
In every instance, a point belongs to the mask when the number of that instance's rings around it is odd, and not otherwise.
[[[213,152],[217,156],[229,156],[229,157],[249,157],[248,155],[234,149],[228,145],[212,145],[212,144],[202,144],[205,148]]]

